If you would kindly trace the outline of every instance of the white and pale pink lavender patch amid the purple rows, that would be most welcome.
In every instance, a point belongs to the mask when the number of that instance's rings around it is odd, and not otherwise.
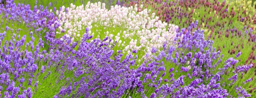
[[[118,46],[124,47],[123,52],[129,53],[131,50],[140,50],[145,47],[143,51],[150,53],[152,47],[161,48],[164,44],[173,43],[178,26],[162,22],[158,16],[155,16],[155,13],[150,17],[148,14],[150,10],[144,9],[140,12],[137,10],[137,5],[134,7],[115,5],[108,10],[104,3],[101,5],[100,2],[94,4],[88,2],[85,8],[84,5],[76,7],[70,4],[67,8],[63,6],[61,11],[56,11],[56,14],[61,24],[59,31],[65,31],[67,37],[80,38],[81,30],[86,27],[90,29],[94,27],[120,28],[121,31],[117,31],[119,32],[117,35],[113,35],[111,31],[103,33],[104,31],[97,30],[97,32],[117,41]],[[96,25],[97,23],[99,26]],[[99,37],[99,35],[96,36]]]

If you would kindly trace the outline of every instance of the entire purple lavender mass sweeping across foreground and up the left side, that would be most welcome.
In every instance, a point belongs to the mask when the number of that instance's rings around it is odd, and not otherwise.
[[[39,97],[42,89],[56,89],[48,96],[56,98],[251,96],[242,85],[235,84],[238,77],[253,72],[252,64],[235,66],[238,60],[233,58],[223,62],[223,55],[212,47],[213,42],[204,39],[204,30],[197,29],[198,21],[191,23],[188,30],[176,31],[177,43],[163,44],[160,49],[153,47],[153,57],[136,63],[137,50],[127,55],[123,55],[122,50],[115,53],[113,48],[117,41],[112,44],[108,37],[92,39],[90,27],[85,29],[80,42],[73,42],[66,35],[58,39],[55,31],[60,25],[51,11],[43,10],[43,7],[31,11],[29,5],[22,4],[15,6],[13,1],[7,1],[5,9],[1,9],[1,14],[5,15],[2,18],[17,21],[20,25],[27,20],[26,30],[30,34],[21,37],[20,29],[12,27],[0,34],[1,43],[4,43],[0,62],[1,97]],[[27,10],[24,11],[25,7]],[[12,9],[22,10],[24,14],[10,12]],[[44,13],[40,14],[41,11]],[[15,14],[19,15],[10,18]],[[33,15],[40,18],[34,19]],[[40,27],[42,30],[37,31]],[[4,41],[9,30],[14,30],[12,37]],[[38,42],[34,41],[33,32],[42,37]],[[27,43],[26,35],[31,37]],[[248,79],[245,85],[253,80],[248,76],[243,78]],[[226,87],[234,87],[236,94],[230,94]]]

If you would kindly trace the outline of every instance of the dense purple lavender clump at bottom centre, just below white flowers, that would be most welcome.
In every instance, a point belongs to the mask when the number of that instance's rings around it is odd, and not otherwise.
[[[60,70],[73,71],[75,78],[81,75],[83,77],[77,82],[68,83],[66,87],[63,86],[55,97],[63,97],[64,95],[72,97],[83,95],[84,97],[121,97],[125,90],[142,86],[142,82],[136,79],[141,77],[142,73],[129,69],[137,57],[130,54],[121,60],[123,54],[119,52],[114,56],[114,59],[111,59],[114,54],[111,48],[115,44],[109,45],[109,42],[105,42],[104,39],[103,41],[94,39],[88,43],[87,40],[90,38],[91,36],[85,33],[77,50],[68,48],[61,50],[62,53],[67,53],[64,55],[67,59],[60,58],[65,60]],[[116,91],[112,91],[113,89]],[[71,94],[71,92],[74,93]]]

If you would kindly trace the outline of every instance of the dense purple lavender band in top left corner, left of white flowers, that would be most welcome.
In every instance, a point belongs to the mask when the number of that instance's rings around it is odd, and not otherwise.
[[[3,6],[3,4],[1,4],[1,6]],[[51,6],[51,4],[49,4],[49,6]],[[53,13],[56,8],[54,8],[52,12],[42,5],[39,5],[38,8],[37,5],[35,5],[33,10],[30,9],[30,5],[15,4],[14,0],[7,0],[5,8],[2,7],[0,9],[0,14],[3,14],[4,16],[2,18],[7,19],[7,21],[14,20],[19,23],[25,23],[27,27],[33,28],[35,33],[45,33],[45,39],[52,41],[53,38],[55,38],[56,28],[60,26],[57,17]]]

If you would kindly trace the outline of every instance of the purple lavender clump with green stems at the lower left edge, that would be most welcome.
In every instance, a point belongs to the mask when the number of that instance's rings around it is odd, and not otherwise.
[[[42,60],[39,56],[44,57],[44,53],[40,52],[43,43],[38,42],[35,51],[32,52],[34,41],[27,42],[25,46],[26,35],[19,38],[19,35],[13,34],[13,39],[8,42],[3,40],[7,36],[5,31],[0,33],[0,36],[0,43],[3,42],[3,46],[0,48],[0,88],[4,93],[2,97],[31,98],[31,86],[36,77],[34,73],[38,70],[38,61]],[[21,50],[22,46],[25,46],[26,49]],[[29,46],[32,49],[29,49]]]

